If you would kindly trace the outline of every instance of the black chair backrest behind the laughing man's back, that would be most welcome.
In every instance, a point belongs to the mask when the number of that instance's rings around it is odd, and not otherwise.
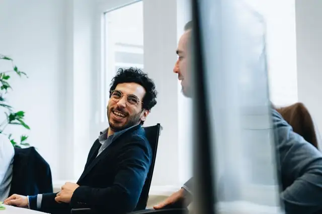
[[[145,209],[147,204],[156,158],[157,142],[159,140],[160,130],[162,130],[162,126],[160,126],[160,124],[156,124],[155,126],[144,127],[144,130],[146,138],[152,148],[152,162],[135,210]]]

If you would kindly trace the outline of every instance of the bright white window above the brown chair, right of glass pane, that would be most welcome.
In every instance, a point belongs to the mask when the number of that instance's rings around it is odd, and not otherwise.
[[[295,1],[246,2],[266,21],[271,101],[278,106],[297,102]]]

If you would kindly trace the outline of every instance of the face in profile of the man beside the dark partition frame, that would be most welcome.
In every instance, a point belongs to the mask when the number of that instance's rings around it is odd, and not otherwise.
[[[173,72],[178,74],[181,80],[182,92],[185,96],[191,96],[191,75],[190,75],[190,37],[191,30],[186,31],[180,38],[178,43],[177,55],[178,60],[173,68]]]

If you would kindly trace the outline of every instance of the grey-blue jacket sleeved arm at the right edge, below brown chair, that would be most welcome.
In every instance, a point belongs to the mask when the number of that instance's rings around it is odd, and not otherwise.
[[[273,124],[282,181],[293,181],[281,192],[286,213],[310,214],[322,210],[321,152],[294,133],[275,110]]]

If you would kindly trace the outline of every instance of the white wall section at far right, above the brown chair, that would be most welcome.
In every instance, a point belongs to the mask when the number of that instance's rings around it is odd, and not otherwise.
[[[322,129],[322,1],[296,0],[298,99]]]

